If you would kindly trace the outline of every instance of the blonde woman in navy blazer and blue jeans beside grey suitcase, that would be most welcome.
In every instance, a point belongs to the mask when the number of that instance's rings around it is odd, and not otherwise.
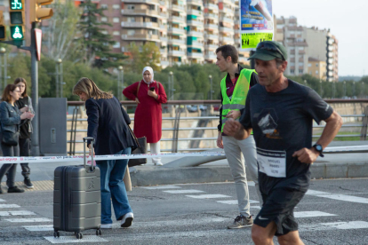
[[[95,139],[95,154],[131,154],[137,144],[128,128],[129,115],[110,92],[101,91],[89,78],[81,78],[73,93],[85,101],[87,136]],[[91,141],[87,142],[91,153]],[[132,225],[133,213],[124,185],[128,160],[98,161],[101,181],[101,228],[111,229],[111,199],[121,227]]]

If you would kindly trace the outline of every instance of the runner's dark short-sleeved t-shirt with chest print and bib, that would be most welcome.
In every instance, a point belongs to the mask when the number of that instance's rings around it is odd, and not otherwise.
[[[316,91],[288,81],[288,87],[278,92],[268,92],[260,84],[253,86],[240,118],[245,129],[253,130],[264,194],[282,186],[307,191],[310,164],[292,154],[312,146],[313,120],[320,123],[333,112]]]

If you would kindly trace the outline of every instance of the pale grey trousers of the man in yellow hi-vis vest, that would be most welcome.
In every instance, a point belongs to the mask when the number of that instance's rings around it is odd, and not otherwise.
[[[260,206],[262,206],[260,186],[258,185],[257,151],[254,138],[251,135],[249,138],[237,140],[233,137],[223,136],[222,142],[226,157],[228,159],[228,165],[230,166],[231,174],[233,175],[236,185],[237,205],[239,212],[241,215],[249,217],[251,215],[251,206],[249,203],[249,191],[245,174],[245,165],[246,170],[249,171],[252,181],[255,184]]]

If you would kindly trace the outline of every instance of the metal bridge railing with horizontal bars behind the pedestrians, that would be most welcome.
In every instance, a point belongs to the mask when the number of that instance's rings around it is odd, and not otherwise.
[[[367,106],[364,106],[364,114],[357,114],[357,115],[341,115],[341,117],[343,118],[348,118],[348,117],[356,117],[356,118],[362,118],[362,123],[348,123],[348,124],[343,124],[341,128],[361,128],[361,133],[360,134],[346,134],[346,135],[337,135],[336,138],[350,138],[350,137],[359,137],[360,140],[366,140],[367,137],[367,128],[368,128],[368,99],[325,99],[325,101],[329,104],[334,104],[334,103],[361,103],[361,104],[366,104]],[[68,106],[83,106],[84,102],[82,101],[68,101]],[[135,107],[136,103],[134,101],[122,101],[122,105],[124,107]],[[194,131],[199,131],[199,130],[216,130],[217,131],[217,127],[206,127],[206,126],[198,126],[198,127],[192,127],[192,128],[188,128],[188,127],[182,127],[180,128],[180,121],[185,121],[185,120],[207,120],[207,123],[211,120],[216,120],[219,121],[219,114],[217,115],[204,115],[204,116],[186,116],[186,117],[182,117],[181,116],[181,112],[185,107],[183,108],[183,106],[187,106],[187,105],[208,105],[208,106],[212,106],[212,105],[219,105],[220,106],[220,100],[171,100],[168,101],[167,104],[164,104],[164,107],[176,107],[176,111],[175,111],[175,116],[173,117],[163,117],[163,121],[174,121],[174,125],[173,128],[163,128],[163,131],[172,131],[173,132],[173,137],[172,138],[161,138],[161,141],[172,141],[172,149],[162,149],[162,152],[172,152],[172,153],[176,153],[176,152],[181,152],[181,151],[198,151],[198,150],[208,150],[208,149],[212,149],[212,148],[200,148],[198,146],[196,147],[190,147],[190,148],[186,148],[186,149],[179,149],[178,148],[178,142],[179,141],[201,141],[201,140],[216,140],[216,137],[192,137],[192,138],[179,138],[179,131],[180,130],[194,130]],[[363,108],[363,106],[362,106]],[[200,108],[198,107],[198,110],[200,110]],[[209,111],[209,109],[207,110]],[[133,121],[134,118],[131,118],[131,120]],[[73,118],[68,119],[68,122],[72,122],[72,129],[68,129],[68,132],[70,132],[70,140],[68,140],[68,143],[70,144],[69,146],[69,152],[68,154],[80,154],[82,152],[76,151],[76,147],[75,144],[79,144],[79,143],[83,143],[83,140],[76,140],[76,132],[87,132],[87,130],[76,130],[76,122],[85,122],[87,121],[86,118],[77,118],[77,116],[73,115]],[[74,127],[74,129],[73,129]],[[318,129],[318,128],[324,128],[324,125],[314,125],[314,128]],[[321,135],[313,135],[313,138],[319,138]],[[74,145],[73,147],[71,145]],[[199,144],[195,144],[195,145],[199,145]],[[72,150],[74,149],[74,151]]]

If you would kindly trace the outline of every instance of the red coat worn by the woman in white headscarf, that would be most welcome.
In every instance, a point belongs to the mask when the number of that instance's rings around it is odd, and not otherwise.
[[[137,92],[140,83],[140,91]],[[148,89],[155,87],[158,98],[155,99],[148,95]],[[137,138],[147,137],[147,143],[156,143],[162,136],[163,110],[161,103],[166,103],[166,92],[161,83],[154,81],[149,85],[140,81],[132,83],[123,91],[126,98],[135,100],[138,98],[140,104],[137,105],[134,115],[134,134]]]

